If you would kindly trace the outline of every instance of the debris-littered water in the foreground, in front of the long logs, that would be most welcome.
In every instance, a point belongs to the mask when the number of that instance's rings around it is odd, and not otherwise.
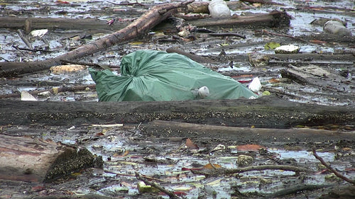
[[[275,193],[301,184],[339,186],[344,181],[333,176],[315,159],[310,152],[314,143],[283,144],[280,142],[255,143],[266,147],[263,152],[248,152],[236,149],[236,146],[249,143],[216,140],[209,137],[193,137],[192,142],[199,149],[186,147],[183,137],[149,137],[136,125],[124,127],[97,127],[91,125],[71,127],[3,127],[8,134],[26,133],[35,137],[50,138],[65,144],[80,144],[92,153],[103,157],[104,169],[86,169],[53,183],[22,183],[11,186],[3,182],[0,196],[6,198],[26,197],[30,195],[89,194],[116,196],[124,198],[168,198],[155,193],[138,193],[135,172],[155,178],[164,188],[183,194],[186,198],[231,198],[232,195],[244,195],[246,198],[259,198],[261,195]],[[354,142],[352,142],[354,143]],[[211,152],[218,144],[225,149]],[[317,149],[320,157],[349,178],[355,178],[355,153],[351,142],[319,142]],[[293,171],[262,170],[247,171],[234,175],[205,177],[193,174],[186,168],[202,168],[212,162],[226,169],[240,168],[236,163],[239,156],[253,157],[250,166],[290,165],[307,169],[296,174]],[[346,171],[349,170],[349,171]],[[213,173],[213,169],[202,171]],[[40,191],[31,191],[33,187],[43,186]],[[317,198],[330,189],[304,191],[287,198]],[[217,193],[214,195],[213,193]],[[214,196],[213,196],[214,195]]]

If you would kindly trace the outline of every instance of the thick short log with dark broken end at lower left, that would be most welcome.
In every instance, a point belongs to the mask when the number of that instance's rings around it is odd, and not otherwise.
[[[102,167],[102,157],[85,148],[51,140],[0,135],[0,179],[49,182],[92,166]]]

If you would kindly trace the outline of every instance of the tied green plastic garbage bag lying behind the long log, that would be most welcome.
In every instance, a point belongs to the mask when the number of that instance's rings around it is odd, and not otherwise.
[[[257,97],[229,76],[214,72],[184,55],[163,51],[138,50],[124,56],[121,60],[121,75],[109,70],[94,69],[89,69],[89,73],[96,83],[99,101]]]

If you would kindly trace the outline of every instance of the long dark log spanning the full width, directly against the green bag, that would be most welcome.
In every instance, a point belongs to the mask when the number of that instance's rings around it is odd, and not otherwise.
[[[77,125],[175,120],[234,127],[355,125],[355,107],[294,103],[268,96],[255,100],[160,102],[0,101],[0,125]]]

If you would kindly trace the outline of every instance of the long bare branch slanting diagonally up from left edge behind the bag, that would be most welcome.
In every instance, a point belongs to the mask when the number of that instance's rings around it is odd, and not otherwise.
[[[115,33],[100,38],[91,44],[82,45],[70,52],[60,55],[53,59],[47,59],[40,62],[1,62],[0,63],[0,76],[13,76],[17,74],[26,74],[28,72],[36,72],[43,69],[48,69],[55,65],[60,64],[61,59],[73,60],[87,55],[92,55],[95,52],[107,49],[113,45],[117,45],[121,42],[132,40],[138,36],[144,35],[155,25],[163,21],[168,16],[176,11],[176,8],[180,6],[186,6],[194,0],[185,1],[182,3],[161,4],[154,6],[147,13],[143,14],[140,18],[133,23],[126,26]]]

